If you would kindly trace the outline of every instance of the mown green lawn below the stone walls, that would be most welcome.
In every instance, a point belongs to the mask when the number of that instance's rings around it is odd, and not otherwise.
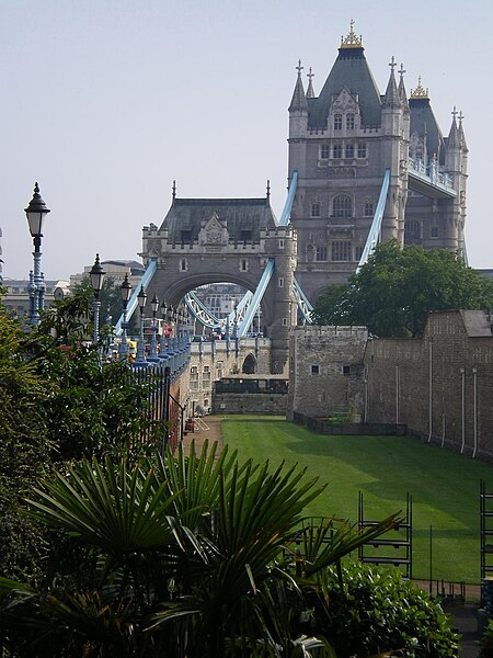
[[[357,522],[358,491],[365,518],[405,510],[413,499],[413,578],[479,582],[480,480],[493,491],[493,465],[406,436],[324,436],[279,418],[226,417],[225,443],[240,457],[308,466],[326,490],[307,510]]]

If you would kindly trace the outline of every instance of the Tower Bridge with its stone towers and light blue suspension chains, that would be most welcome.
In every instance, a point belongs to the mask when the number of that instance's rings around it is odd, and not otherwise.
[[[380,93],[353,22],[319,95],[311,69],[305,91],[299,61],[280,220],[271,208],[270,186],[259,198],[180,198],[173,184],[161,226],[142,230],[148,295],[177,306],[207,283],[243,286],[249,296],[240,334],[262,305],[270,367],[277,374],[286,371],[298,308],[306,318],[323,288],[345,283],[378,241],[395,238],[465,256],[463,115],[454,107],[444,137],[421,78],[408,95],[403,66],[399,80],[393,57],[389,66]]]

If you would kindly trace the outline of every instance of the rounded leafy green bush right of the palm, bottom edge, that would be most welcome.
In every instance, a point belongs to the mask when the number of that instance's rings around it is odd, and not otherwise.
[[[337,656],[367,658],[383,651],[408,658],[458,656],[458,636],[440,605],[398,570],[347,565],[342,583],[334,569],[328,574],[331,604],[325,632]]]

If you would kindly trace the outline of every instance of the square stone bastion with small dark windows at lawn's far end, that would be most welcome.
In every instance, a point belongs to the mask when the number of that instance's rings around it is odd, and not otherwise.
[[[296,327],[291,332],[288,418],[364,411],[366,327]]]

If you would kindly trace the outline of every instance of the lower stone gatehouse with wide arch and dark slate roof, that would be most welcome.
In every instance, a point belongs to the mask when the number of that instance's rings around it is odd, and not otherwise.
[[[207,283],[236,283],[255,292],[272,259],[262,298],[264,333],[271,339],[271,372],[287,372],[289,330],[296,325],[293,291],[297,241],[291,226],[277,226],[270,194],[264,198],[173,200],[162,225],[145,226],[142,252],[158,270],[147,293],[177,306]]]

